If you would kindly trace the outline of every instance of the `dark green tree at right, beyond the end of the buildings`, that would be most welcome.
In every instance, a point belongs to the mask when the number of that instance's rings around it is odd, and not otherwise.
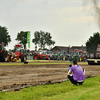
[[[94,33],[86,42],[86,49],[89,53],[95,53],[97,45],[100,44],[100,33]]]

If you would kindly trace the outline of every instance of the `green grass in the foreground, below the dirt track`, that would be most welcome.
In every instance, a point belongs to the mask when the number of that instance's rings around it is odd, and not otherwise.
[[[0,92],[0,100],[100,100],[100,76],[86,79],[81,86],[65,81]]]

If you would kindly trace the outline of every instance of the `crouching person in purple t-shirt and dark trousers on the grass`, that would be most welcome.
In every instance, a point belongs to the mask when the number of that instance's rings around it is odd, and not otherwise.
[[[72,74],[73,76],[68,75],[68,79],[73,83],[74,85],[82,85],[82,83],[85,81],[85,75],[83,73],[83,69],[81,66],[77,65],[77,60],[73,61],[73,65],[70,69],[69,74]]]

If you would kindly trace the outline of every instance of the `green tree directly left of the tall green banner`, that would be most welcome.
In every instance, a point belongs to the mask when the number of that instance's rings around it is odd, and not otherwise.
[[[27,33],[28,31],[24,32],[21,31],[20,33],[17,33],[17,38],[15,40],[18,40],[20,44],[24,46],[24,49],[26,49],[27,44]]]

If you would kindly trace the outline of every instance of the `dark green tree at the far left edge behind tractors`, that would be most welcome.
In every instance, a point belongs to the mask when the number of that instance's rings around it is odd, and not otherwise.
[[[7,31],[7,28],[0,26],[0,44],[3,43],[4,46],[7,46],[10,42],[11,37]]]

